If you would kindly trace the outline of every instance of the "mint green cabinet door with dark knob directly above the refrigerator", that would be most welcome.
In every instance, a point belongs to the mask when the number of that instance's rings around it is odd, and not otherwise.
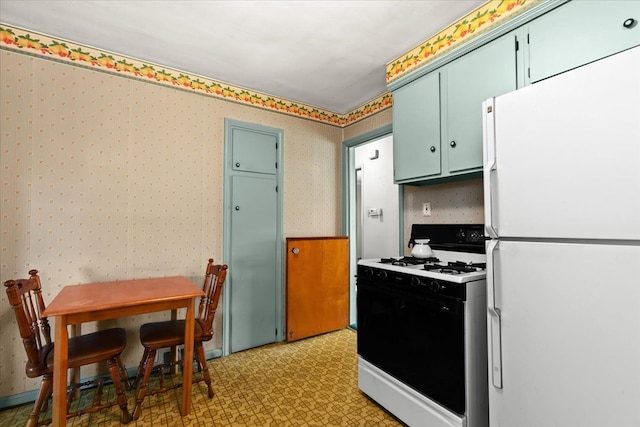
[[[529,24],[531,82],[640,44],[640,1],[574,0]]]

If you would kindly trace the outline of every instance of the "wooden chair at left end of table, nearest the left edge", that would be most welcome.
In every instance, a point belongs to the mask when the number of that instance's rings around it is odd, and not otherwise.
[[[53,391],[53,346],[51,328],[46,317],[42,316],[45,309],[42,299],[42,287],[38,270],[29,271],[28,279],[7,280],[6,286],[9,303],[20,328],[20,336],[27,352],[26,374],[29,378],[42,377],[40,392],[33,406],[33,411],[27,421],[27,426],[47,424],[51,420],[38,422],[41,411],[46,411],[49,397]],[[127,424],[131,421],[131,414],[127,409],[127,398],[122,384],[128,386],[127,373],[122,364],[120,354],[127,343],[125,330],[122,328],[105,329],[90,334],[69,338],[68,368],[107,362],[111,379],[117,394],[116,402],[102,403],[102,381],[98,381],[96,399],[88,409],[74,413],[67,413],[67,418],[96,412],[118,404],[122,410],[120,421]],[[82,385],[87,385],[84,383]],[[68,393],[67,411],[75,395],[78,384],[71,386]]]

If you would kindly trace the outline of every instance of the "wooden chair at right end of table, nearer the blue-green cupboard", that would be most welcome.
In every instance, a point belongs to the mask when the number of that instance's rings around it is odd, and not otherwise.
[[[204,296],[200,299],[200,305],[195,319],[194,357],[198,363],[198,371],[202,372],[202,377],[194,379],[194,381],[204,381],[207,384],[209,398],[212,398],[214,393],[202,343],[209,341],[213,337],[213,319],[216,314],[216,309],[218,308],[218,301],[220,300],[220,294],[226,276],[227,266],[214,265],[213,259],[209,259],[204,284],[202,286]],[[164,322],[145,323],[140,327],[140,342],[144,346],[144,353],[138,366],[134,388],[138,387],[140,378],[143,378],[142,384],[137,390],[136,406],[133,411],[134,419],[138,419],[140,416],[142,401],[147,394],[163,393],[182,386],[181,383],[166,386],[164,383],[164,371],[161,369],[159,388],[147,392],[149,377],[154,368],[153,361],[156,357],[156,352],[161,348],[170,347],[172,349],[172,360],[175,360],[177,346],[184,344],[184,322],[184,320],[168,320]]]

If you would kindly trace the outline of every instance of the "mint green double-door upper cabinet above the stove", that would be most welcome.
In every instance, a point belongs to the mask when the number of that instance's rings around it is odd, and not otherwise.
[[[517,89],[516,59],[510,32],[394,90],[396,183],[482,171],[482,102]]]

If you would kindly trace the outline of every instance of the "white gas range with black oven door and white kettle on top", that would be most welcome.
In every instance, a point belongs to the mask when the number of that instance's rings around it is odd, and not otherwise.
[[[430,238],[433,258],[358,262],[358,385],[410,426],[488,425],[478,229],[414,225],[411,241]]]

